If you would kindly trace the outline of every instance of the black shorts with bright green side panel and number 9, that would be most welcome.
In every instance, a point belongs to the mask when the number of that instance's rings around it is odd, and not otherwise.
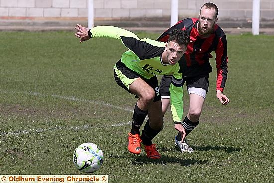
[[[129,93],[131,93],[131,91],[129,90],[130,84],[132,84],[137,78],[141,78],[149,86],[151,86],[151,88],[154,89],[155,97],[154,97],[153,102],[157,102],[157,101],[161,100],[158,79],[156,76],[154,76],[150,79],[146,79],[146,78],[142,77],[140,74],[138,74],[138,73],[132,71],[131,69],[129,69],[128,67],[126,67],[126,65],[124,63],[122,63],[121,60],[119,60],[115,64],[114,79],[119,86],[121,86],[122,88],[127,90]],[[138,98],[137,96],[135,96],[135,97]]]

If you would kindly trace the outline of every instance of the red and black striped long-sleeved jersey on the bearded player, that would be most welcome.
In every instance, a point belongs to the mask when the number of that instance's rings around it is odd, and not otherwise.
[[[200,38],[197,30],[199,19],[187,18],[179,21],[176,25],[166,30],[157,40],[166,42],[168,33],[174,28],[186,30],[190,35],[190,42],[185,55],[181,58],[183,77],[193,77],[208,74],[212,71],[209,59],[211,52],[215,51],[217,80],[216,90],[223,92],[227,79],[227,40],[226,35],[217,24],[214,32],[208,38]],[[179,61],[179,62],[180,62]]]

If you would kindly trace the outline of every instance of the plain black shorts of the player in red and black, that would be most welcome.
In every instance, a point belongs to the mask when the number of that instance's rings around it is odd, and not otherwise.
[[[191,78],[183,78],[183,85],[186,82],[187,88],[202,88],[208,92],[208,75],[195,76]],[[160,93],[162,96],[169,96],[169,86],[171,84],[172,76],[163,75],[160,83]]]

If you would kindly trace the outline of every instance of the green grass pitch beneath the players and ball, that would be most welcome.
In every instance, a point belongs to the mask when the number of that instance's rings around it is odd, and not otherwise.
[[[95,174],[109,183],[273,182],[274,36],[227,35],[231,102],[216,99],[213,69],[200,124],[187,137],[195,152],[175,149],[169,111],[154,139],[162,159],[149,160],[127,150],[137,99],[113,79],[125,48],[106,39],[80,44],[73,34],[0,32],[0,174],[81,174],[73,151],[93,142],[105,156]],[[186,113],[186,92],[184,101]]]

